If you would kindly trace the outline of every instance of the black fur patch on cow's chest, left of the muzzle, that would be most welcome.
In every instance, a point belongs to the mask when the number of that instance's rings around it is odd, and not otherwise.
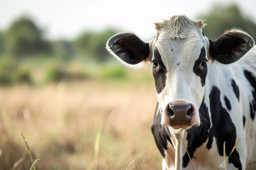
[[[151,131],[153,133],[155,144],[157,145],[157,148],[159,149],[161,155],[165,157],[164,150],[167,150],[167,141],[169,141],[171,144],[171,139],[168,135],[168,133],[165,131],[164,127],[161,126],[161,113],[157,114],[157,108],[158,108],[158,102],[157,106],[155,108],[155,115],[153,122],[151,124]]]

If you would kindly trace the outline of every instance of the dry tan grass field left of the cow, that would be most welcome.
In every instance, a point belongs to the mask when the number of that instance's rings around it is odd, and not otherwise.
[[[1,87],[0,170],[29,170],[21,132],[38,170],[126,170],[134,160],[138,170],[161,169],[150,130],[156,102],[153,81],[138,77]]]

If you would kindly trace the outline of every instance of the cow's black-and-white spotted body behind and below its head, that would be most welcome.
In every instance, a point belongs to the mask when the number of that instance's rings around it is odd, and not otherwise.
[[[208,65],[204,99],[199,109],[202,126],[195,127],[192,132],[186,131],[183,135],[195,170],[225,169],[225,141],[228,170],[256,169],[255,73],[256,47],[229,66],[217,63]],[[173,170],[175,149],[171,137],[159,124],[159,119],[161,114],[157,104],[151,129],[164,157],[163,170]],[[228,157],[239,139],[235,150]],[[192,170],[184,146],[182,168]]]

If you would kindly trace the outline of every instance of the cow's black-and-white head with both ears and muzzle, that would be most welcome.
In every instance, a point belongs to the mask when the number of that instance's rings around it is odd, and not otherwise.
[[[133,33],[119,33],[106,44],[126,66],[153,64],[161,124],[174,133],[200,126],[209,62],[236,62],[254,45],[248,34],[235,29],[211,41],[202,33],[203,22],[175,15],[155,24],[157,34],[148,43]]]

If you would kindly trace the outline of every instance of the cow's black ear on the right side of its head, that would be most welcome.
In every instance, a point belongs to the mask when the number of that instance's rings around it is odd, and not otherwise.
[[[209,42],[210,58],[222,64],[236,62],[255,44],[252,37],[237,29],[225,31],[217,40]]]

